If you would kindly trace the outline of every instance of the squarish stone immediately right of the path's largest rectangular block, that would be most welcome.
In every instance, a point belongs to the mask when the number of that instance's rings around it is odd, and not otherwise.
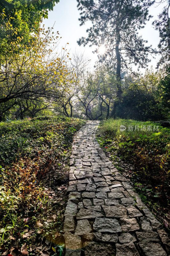
[[[124,232],[139,230],[139,225],[135,218],[132,218],[132,219],[121,218],[120,223],[121,223],[122,231]]]

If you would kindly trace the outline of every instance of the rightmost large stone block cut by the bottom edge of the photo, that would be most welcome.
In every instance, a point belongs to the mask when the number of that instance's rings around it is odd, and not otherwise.
[[[157,243],[139,243],[139,246],[142,248],[142,251],[146,256],[166,256],[166,252],[162,246]]]

